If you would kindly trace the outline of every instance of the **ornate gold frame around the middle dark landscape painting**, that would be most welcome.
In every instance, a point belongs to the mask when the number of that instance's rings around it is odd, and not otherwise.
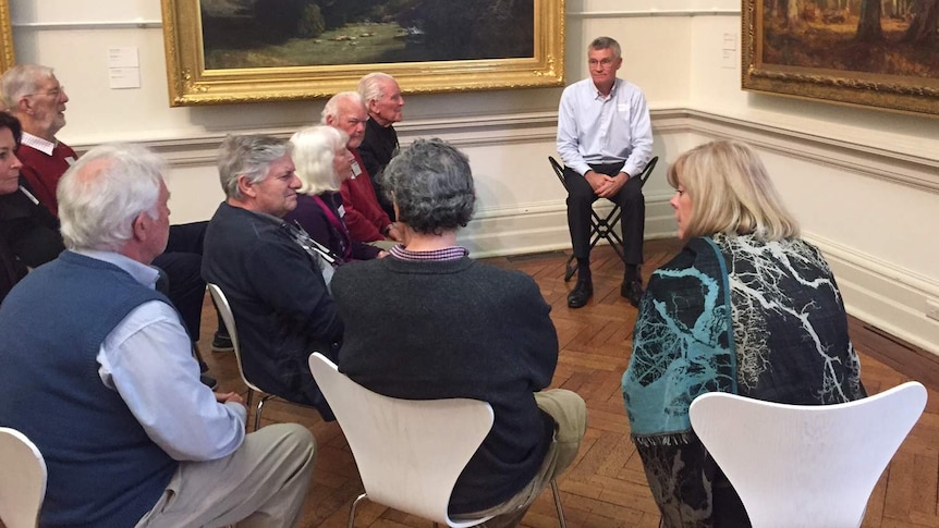
[[[562,86],[564,82],[564,0],[516,0],[533,3],[534,9],[529,10],[533,20],[513,21],[511,26],[493,35],[497,38],[499,35],[510,35],[511,32],[517,32],[520,25],[524,27],[526,24],[532,24],[531,34],[534,35],[534,39],[528,47],[529,54],[524,57],[321,65],[278,65],[276,61],[271,61],[270,66],[258,66],[255,63],[245,64],[243,67],[240,67],[240,64],[229,64],[223,67],[206,66],[207,47],[203,23],[209,21],[212,27],[208,35],[217,36],[220,33],[219,16],[211,10],[217,9],[216,5],[240,4],[242,10],[237,16],[241,16],[241,22],[235,19],[236,15],[230,15],[227,20],[232,21],[233,24],[242,24],[241,27],[244,28],[244,12],[254,5],[254,2],[269,0],[232,0],[228,3],[218,0],[161,1],[167,76],[170,105],[173,107],[325,98],[338,91],[355,89],[363,75],[375,71],[393,75],[406,94]],[[280,1],[284,2],[284,0]],[[419,9],[420,5],[434,5],[424,3],[427,1],[430,0],[414,0],[411,2],[414,5],[412,11]],[[440,2],[440,0],[432,1]],[[408,2],[399,0],[375,3],[383,3],[389,5],[387,9],[392,9],[390,5]],[[305,4],[315,5],[317,2],[306,1]],[[462,5],[456,0],[452,3],[448,0],[447,4],[451,5],[451,11],[458,12],[459,10],[454,10],[453,7]],[[318,9],[317,7],[316,10]],[[228,15],[228,13],[223,14]],[[419,16],[419,12],[417,14]],[[408,13],[408,16],[413,19],[414,13]],[[398,19],[389,15],[385,20],[405,19],[404,15]],[[391,23],[388,22],[388,24]],[[308,28],[309,25],[304,27]],[[314,29],[308,30],[316,29],[315,24],[313,27]],[[320,26],[319,29],[322,27]],[[221,33],[230,40],[236,38],[233,36],[236,36],[239,30],[239,27],[233,26],[231,32]],[[344,38],[346,40],[344,44],[354,46],[365,42],[368,33],[370,32],[359,30],[349,36],[321,37],[318,41],[309,40],[309,45]],[[395,38],[411,41],[419,38],[423,32],[417,27],[401,27],[399,33]],[[300,39],[294,39],[296,40]],[[235,42],[235,46],[237,44]],[[306,41],[302,44],[307,45]],[[212,53],[210,58],[215,60],[217,50],[209,51]],[[246,59],[244,60],[247,62]],[[212,61],[209,62],[212,63]]]

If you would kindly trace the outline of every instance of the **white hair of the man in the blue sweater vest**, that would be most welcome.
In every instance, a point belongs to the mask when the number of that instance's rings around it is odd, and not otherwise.
[[[164,169],[161,157],[139,145],[106,144],[82,156],[56,191],[65,247],[120,251],[134,219],[159,218]]]

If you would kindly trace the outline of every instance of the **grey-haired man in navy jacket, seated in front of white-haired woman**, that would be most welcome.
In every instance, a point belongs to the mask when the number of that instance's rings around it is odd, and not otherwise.
[[[206,230],[203,277],[231,303],[245,377],[331,420],[307,361],[313,352],[334,358],[343,326],[308,235],[283,221],[302,185],[290,148],[265,135],[222,142],[219,180],[227,199]]]

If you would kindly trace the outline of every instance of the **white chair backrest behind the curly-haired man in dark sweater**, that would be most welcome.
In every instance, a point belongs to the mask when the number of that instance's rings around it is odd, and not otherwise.
[[[365,389],[315,353],[309,368],[333,413],[368,499],[452,527],[456,478],[492,428],[492,407],[466,398],[399,400]]]

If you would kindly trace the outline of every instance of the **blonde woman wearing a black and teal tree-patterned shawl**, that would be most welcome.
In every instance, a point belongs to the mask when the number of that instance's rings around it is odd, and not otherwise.
[[[826,405],[866,395],[834,277],[746,145],[669,168],[682,253],[653,273],[623,374],[630,427],[663,527],[746,527],[740,498],[688,421],[722,391]]]

